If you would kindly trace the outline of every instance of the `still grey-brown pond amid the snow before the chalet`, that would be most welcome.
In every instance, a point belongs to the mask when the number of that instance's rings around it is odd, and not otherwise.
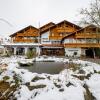
[[[23,68],[36,73],[58,74],[64,69],[63,62],[34,62],[32,66]]]

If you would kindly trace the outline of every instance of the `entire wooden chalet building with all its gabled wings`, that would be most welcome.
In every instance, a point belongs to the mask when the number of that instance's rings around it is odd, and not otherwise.
[[[69,21],[50,22],[39,29],[28,26],[12,35],[5,44],[13,54],[26,54],[35,49],[38,55],[91,56],[94,48],[100,48],[100,29],[95,25],[81,28]]]

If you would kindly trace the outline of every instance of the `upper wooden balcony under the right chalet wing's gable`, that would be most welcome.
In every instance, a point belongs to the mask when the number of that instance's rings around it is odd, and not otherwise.
[[[80,33],[76,34],[76,38],[100,38],[100,33]]]

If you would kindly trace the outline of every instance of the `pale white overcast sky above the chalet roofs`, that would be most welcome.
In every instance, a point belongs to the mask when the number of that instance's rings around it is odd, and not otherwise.
[[[90,0],[0,0],[0,35],[12,34],[27,25],[35,27],[48,23],[80,19],[79,9]]]

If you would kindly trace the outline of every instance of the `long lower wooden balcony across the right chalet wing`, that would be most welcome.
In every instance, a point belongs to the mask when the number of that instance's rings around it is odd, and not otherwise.
[[[100,48],[100,43],[66,43],[64,47],[83,47],[83,48]]]

